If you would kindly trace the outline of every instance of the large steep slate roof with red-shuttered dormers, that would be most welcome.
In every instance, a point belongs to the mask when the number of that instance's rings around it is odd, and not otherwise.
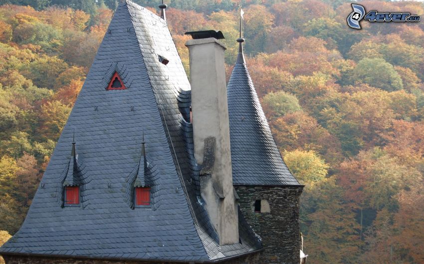
[[[105,89],[115,71],[127,89]],[[193,135],[185,131],[191,124],[180,113],[188,90],[166,22],[121,2],[27,217],[0,253],[208,262],[260,250],[242,216],[242,243],[218,244],[193,180]],[[73,168],[81,178],[81,204],[62,207],[63,184]],[[152,188],[150,208],[133,208],[137,180]]]

